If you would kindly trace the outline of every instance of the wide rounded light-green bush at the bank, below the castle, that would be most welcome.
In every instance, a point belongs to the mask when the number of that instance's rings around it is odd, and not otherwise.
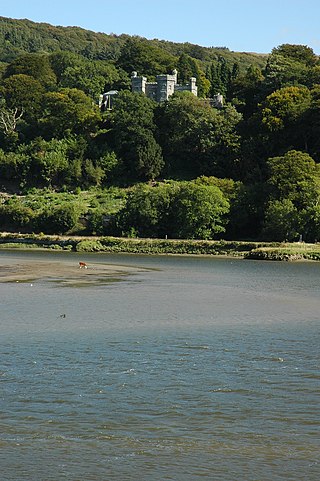
[[[213,185],[172,182],[138,185],[116,215],[115,234],[139,237],[213,239],[225,231],[229,202]]]

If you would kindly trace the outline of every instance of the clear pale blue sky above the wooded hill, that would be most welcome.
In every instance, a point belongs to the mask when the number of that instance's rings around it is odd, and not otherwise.
[[[237,52],[300,44],[320,55],[319,0],[0,0],[0,16]]]

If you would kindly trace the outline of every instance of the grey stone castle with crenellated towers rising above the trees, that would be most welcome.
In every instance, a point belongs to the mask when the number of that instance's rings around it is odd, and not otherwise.
[[[174,92],[187,91],[198,95],[198,87],[196,79],[190,77],[190,81],[186,85],[179,85],[177,82],[178,72],[173,70],[172,74],[157,75],[156,82],[147,82],[147,78],[138,77],[137,72],[132,72],[131,88],[132,92],[144,93],[148,98],[156,102],[164,102],[168,100]]]

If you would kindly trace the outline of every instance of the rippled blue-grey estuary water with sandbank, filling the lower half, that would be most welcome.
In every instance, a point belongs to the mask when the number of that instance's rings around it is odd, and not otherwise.
[[[0,275],[1,481],[320,479],[320,263],[1,251]]]

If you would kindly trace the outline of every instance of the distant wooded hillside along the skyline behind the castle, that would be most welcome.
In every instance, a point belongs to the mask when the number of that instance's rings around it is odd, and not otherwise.
[[[112,26],[106,25],[108,28],[111,29]],[[61,27],[27,19],[0,17],[0,61],[11,62],[22,53],[52,53],[59,50],[74,52],[90,60],[117,61],[128,38],[129,35],[105,34],[80,27]],[[186,53],[204,64],[216,60],[218,56],[224,57],[228,63],[239,62],[242,69],[252,64],[262,67],[266,62],[263,54],[232,52],[227,48],[207,48],[157,39],[141,40],[175,57]]]

